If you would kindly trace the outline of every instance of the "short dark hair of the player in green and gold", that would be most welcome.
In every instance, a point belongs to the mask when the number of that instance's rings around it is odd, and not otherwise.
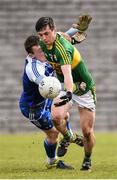
[[[41,31],[44,27],[49,26],[50,29],[54,29],[55,28],[55,23],[54,20],[51,17],[41,17],[40,19],[38,19],[38,21],[36,22],[35,25],[35,30],[37,32]]]

